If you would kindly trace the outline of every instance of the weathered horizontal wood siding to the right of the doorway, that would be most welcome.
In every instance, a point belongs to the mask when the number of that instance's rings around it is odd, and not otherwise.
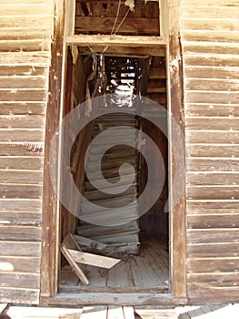
[[[238,17],[238,0],[182,0],[190,301],[238,300]]]

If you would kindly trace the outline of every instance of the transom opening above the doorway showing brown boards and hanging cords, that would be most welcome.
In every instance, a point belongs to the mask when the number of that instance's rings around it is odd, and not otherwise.
[[[75,34],[160,36],[158,2],[124,2],[76,0]]]

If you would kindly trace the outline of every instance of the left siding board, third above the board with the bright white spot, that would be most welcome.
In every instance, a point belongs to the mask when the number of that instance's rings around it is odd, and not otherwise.
[[[41,226],[42,215],[36,212],[0,211],[0,225]]]

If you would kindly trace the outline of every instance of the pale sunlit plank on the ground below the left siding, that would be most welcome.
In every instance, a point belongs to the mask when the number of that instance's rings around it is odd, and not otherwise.
[[[61,318],[61,319],[80,319],[82,309],[79,308],[48,308],[48,307],[25,307],[11,306],[6,315],[12,319],[25,318]]]

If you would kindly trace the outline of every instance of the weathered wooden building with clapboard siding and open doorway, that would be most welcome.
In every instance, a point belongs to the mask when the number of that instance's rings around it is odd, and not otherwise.
[[[0,12],[0,303],[238,302],[239,0],[0,0]],[[124,251],[121,266],[106,274],[88,267],[85,286],[60,251],[78,221],[57,200],[49,165],[59,123],[92,96],[93,56],[104,57],[111,80],[133,77],[133,70],[134,88],[141,78],[141,93],[168,109],[164,120],[183,165],[143,117],[141,128],[168,166],[163,195],[149,214],[163,225],[161,240],[137,237],[149,220],[129,225],[126,245],[114,246]],[[72,173],[80,189],[87,184],[89,199],[95,190],[85,180],[82,154],[107,120],[87,126],[74,145]],[[134,126],[133,118],[124,120]],[[120,154],[132,159],[128,150]],[[144,173],[137,183],[144,185]],[[170,190],[182,185],[174,209],[162,214]],[[78,234],[113,241],[109,231],[84,227]],[[111,237],[120,241],[126,231],[115,228]],[[144,253],[136,252],[138,241]]]

